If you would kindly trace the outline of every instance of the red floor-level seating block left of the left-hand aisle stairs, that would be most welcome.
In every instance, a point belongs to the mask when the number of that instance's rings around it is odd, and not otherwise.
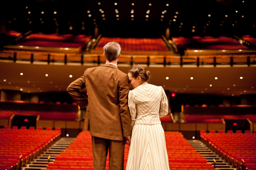
[[[0,129],[0,169],[5,170],[11,166],[16,169],[21,164],[30,162],[57,140],[59,134],[60,129],[38,131],[13,126],[11,130],[9,126],[5,126]]]

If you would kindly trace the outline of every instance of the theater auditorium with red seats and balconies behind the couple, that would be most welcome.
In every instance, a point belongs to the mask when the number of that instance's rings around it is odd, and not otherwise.
[[[0,170],[93,169],[86,108],[66,89],[112,41],[119,70],[144,67],[167,95],[171,170],[256,170],[255,0],[0,4]]]

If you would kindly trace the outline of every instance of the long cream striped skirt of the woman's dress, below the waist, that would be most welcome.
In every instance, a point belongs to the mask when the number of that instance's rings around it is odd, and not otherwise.
[[[135,124],[126,170],[169,170],[165,135],[161,124]]]

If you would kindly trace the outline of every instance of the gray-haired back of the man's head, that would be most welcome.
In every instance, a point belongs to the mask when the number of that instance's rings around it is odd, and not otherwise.
[[[117,42],[108,42],[108,44],[103,47],[103,50],[107,60],[111,62],[117,59],[121,52],[121,47]]]

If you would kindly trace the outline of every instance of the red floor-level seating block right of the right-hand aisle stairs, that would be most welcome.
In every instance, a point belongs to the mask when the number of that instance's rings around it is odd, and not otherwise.
[[[236,133],[228,130],[226,134],[201,131],[201,140],[236,168],[241,168],[244,160],[248,169],[256,170],[256,134],[250,134],[250,131],[242,134],[240,130]]]

